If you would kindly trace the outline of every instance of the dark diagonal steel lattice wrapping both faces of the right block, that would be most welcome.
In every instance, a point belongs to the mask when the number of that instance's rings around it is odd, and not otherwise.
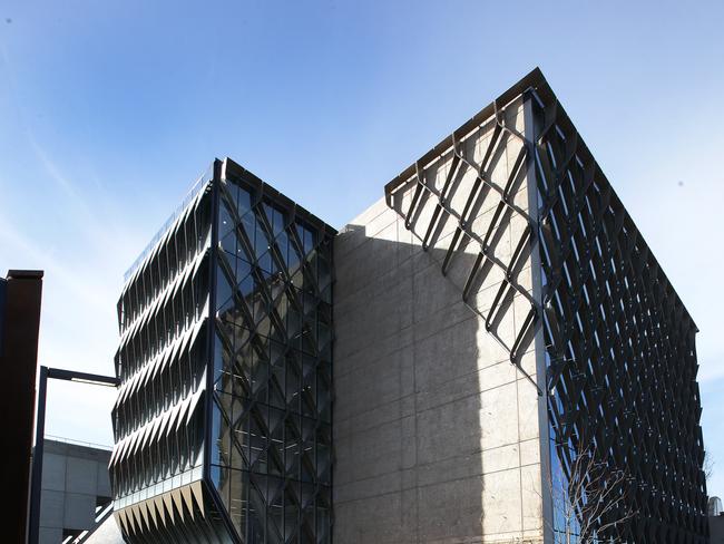
[[[511,128],[505,125],[505,109],[519,97],[532,103],[536,127],[532,132],[526,128],[526,134],[534,135],[529,139],[525,139],[518,132],[510,130],[515,137],[525,140],[520,155],[525,154],[526,161],[517,161],[513,171],[518,166],[524,169],[532,168],[530,178],[536,179],[538,184],[536,192],[540,210],[536,211],[535,221],[527,213],[521,213],[528,222],[529,232],[524,233],[518,240],[513,259],[508,265],[496,263],[505,270],[506,282],[501,283],[492,308],[483,314],[468,304],[467,297],[480,262],[489,259],[486,246],[497,227],[500,210],[510,205],[508,185],[497,187],[500,203],[496,210],[496,220],[485,234],[470,231],[467,213],[479,185],[489,183],[489,179],[486,179],[486,164],[496,139],[502,130]],[[450,179],[456,175],[459,163],[462,162],[458,156],[458,142],[491,118],[496,123],[493,138],[478,168],[473,190],[462,211],[458,213],[450,206],[447,194]],[[534,123],[534,119],[528,118],[527,123]],[[436,162],[442,162],[450,149],[454,157],[442,190],[437,191],[434,182],[430,183],[425,179],[424,168]],[[467,166],[474,167],[470,163]],[[411,187],[414,187],[412,201],[408,207],[403,207],[402,195]],[[590,208],[591,192],[601,194],[598,201],[600,213],[598,215],[591,213],[584,220],[579,217],[580,211],[584,206]],[[421,213],[419,206],[424,193],[430,194],[438,202],[430,223],[415,232],[418,218],[415,214]],[[529,245],[539,253],[542,300],[531,300],[526,297],[531,305],[528,318],[530,322],[526,320],[529,330],[527,331],[526,327],[517,330],[516,340],[508,350],[515,365],[517,348],[521,342],[527,342],[524,339],[528,338],[530,331],[536,333],[542,329],[548,366],[545,395],[551,440],[557,445],[551,448],[554,459],[566,469],[570,466],[571,453],[576,450],[577,444],[574,443],[583,444],[593,440],[599,450],[597,462],[607,463],[612,469],[625,469],[634,460],[636,462],[634,474],[627,480],[629,488],[625,490],[627,496],[635,498],[623,504],[619,512],[609,512],[609,517],[627,509],[636,512],[637,515],[616,526],[609,532],[610,536],[637,543],[703,544],[706,542],[708,531],[704,517],[706,489],[702,472],[702,433],[698,426],[701,402],[695,381],[697,365],[694,336],[697,329],[540,70],[531,71],[390,182],[385,186],[385,195],[388,205],[405,220],[405,226],[421,241],[424,250],[430,246],[429,240],[434,232],[436,223],[440,221],[440,215],[448,214],[458,222],[453,242],[442,261],[443,275],[447,274],[447,268],[454,259],[454,253],[460,251],[458,240],[461,236],[468,236],[480,244],[481,251],[469,272],[461,295],[466,304],[485,320],[489,332],[491,317],[496,315],[496,312],[507,310],[505,307],[498,308],[502,292],[506,289],[520,292],[516,289],[515,276],[510,274],[515,255],[522,251],[524,245]],[[557,208],[562,208],[567,213],[560,214],[560,210],[557,212]],[[605,210],[609,211],[607,216],[603,215]],[[574,214],[573,211],[576,213]],[[560,216],[564,216],[565,221],[560,218],[556,221]],[[571,221],[571,217],[575,221]],[[562,229],[565,231],[561,235]],[[554,231],[559,235],[551,236]],[[601,231],[610,234],[605,247],[596,241],[596,234]],[[594,244],[597,244],[595,251]],[[597,255],[597,252],[601,254]],[[556,258],[556,262],[551,262],[551,254]],[[616,269],[610,264],[614,262],[610,261],[612,256],[615,256],[616,262],[620,264],[619,273],[627,272],[629,269],[635,272],[633,285],[629,286],[628,279],[623,281],[626,282],[628,292],[634,293],[636,307],[630,302],[630,297],[628,299],[624,297],[620,285],[617,284],[613,292],[610,286],[607,286],[606,281]],[[576,265],[571,259],[575,259]],[[585,269],[585,272],[581,273],[581,269]],[[564,283],[570,286],[562,289]],[[526,295],[526,293],[521,294]],[[579,309],[584,305],[584,301],[589,310],[585,318],[581,319],[580,315],[568,311],[571,307]],[[635,308],[638,309],[638,313],[635,313]],[[598,319],[599,312],[619,318],[620,322],[627,326],[633,323],[633,332],[637,339],[648,336],[639,326],[644,318],[643,311],[646,312],[648,323],[652,322],[650,314],[661,317],[661,322],[668,331],[667,337],[658,337],[661,347],[654,346],[646,339],[652,352],[656,353],[656,361],[664,360],[666,365],[654,365],[652,358],[644,360],[639,357],[636,368],[642,369],[645,380],[632,378],[630,361],[636,358],[636,353],[633,346],[626,349],[624,342],[619,341],[623,338],[620,324],[617,324],[613,331],[605,331],[606,347],[609,348],[610,357],[598,357],[595,365],[590,363],[581,368],[584,365],[575,362],[576,358],[566,356],[567,349],[571,346],[575,347],[574,356],[579,356],[579,351],[584,348],[587,350],[586,353],[589,353],[594,339],[596,342],[599,341],[596,326],[605,321],[605,318]],[[561,323],[560,330],[551,328],[554,320]],[[647,365],[658,367],[658,373],[666,378],[666,386],[659,386],[661,381],[657,381],[654,371],[646,372]],[[522,371],[520,366],[517,367]],[[562,401],[561,394],[556,390],[557,386],[561,388],[561,383],[564,388],[567,385],[569,389],[564,389],[568,395]],[[618,395],[619,390],[628,391],[628,396]],[[539,389],[539,394],[542,392]],[[626,404],[636,395],[638,400],[635,408],[627,408]],[[665,400],[672,398],[672,395],[676,401],[667,404]],[[657,420],[658,424],[662,424],[665,417],[671,417],[672,420],[677,421],[676,429],[672,430],[665,425],[648,426],[643,429],[640,416],[639,419],[636,418],[643,407],[647,408],[648,422],[655,419],[654,414],[658,414],[662,415]],[[615,431],[610,430],[612,425]],[[673,435],[676,437],[675,440]],[[677,455],[672,455],[671,446],[663,447],[658,444],[661,437],[667,437],[669,444],[675,444]],[[642,441],[645,455],[637,453],[637,444]],[[666,463],[659,463],[658,466],[652,464],[650,459],[655,456],[665,456]],[[664,506],[664,501],[661,499],[665,494],[668,494],[668,506]],[[658,495],[659,499],[655,502],[655,506],[649,507],[646,503],[654,495]],[[606,519],[601,519],[601,523],[605,522]]]

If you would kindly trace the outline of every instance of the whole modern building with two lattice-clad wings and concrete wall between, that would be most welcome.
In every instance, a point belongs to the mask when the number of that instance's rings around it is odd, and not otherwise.
[[[118,308],[130,542],[707,542],[696,327],[537,69],[339,233],[217,161]]]

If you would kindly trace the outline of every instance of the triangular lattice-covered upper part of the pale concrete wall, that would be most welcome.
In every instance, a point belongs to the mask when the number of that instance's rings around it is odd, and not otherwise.
[[[520,100],[517,107],[520,107]],[[487,140],[479,161],[472,158],[471,149],[466,149],[466,142],[472,139],[476,130],[485,134]],[[511,150],[515,159],[503,164],[501,156]],[[538,232],[527,202],[519,202],[520,192],[526,192],[525,179],[530,161],[531,146],[527,145],[515,123],[510,123],[506,111],[493,103],[491,108],[478,114],[437,146],[433,153],[415,162],[413,168],[390,182],[385,193],[388,205],[404,218],[405,227],[420,241],[422,249],[436,249],[444,254],[440,263],[443,275],[451,276],[451,269],[456,261],[461,260],[461,254],[476,255],[471,263],[460,263],[461,270],[454,274],[452,283],[466,305],[481,318],[486,331],[542,395],[538,383],[521,366],[521,356],[530,348],[540,315],[539,302],[521,280]],[[436,172],[430,172],[434,163],[443,164],[447,171],[441,186],[438,186]],[[503,175],[500,181],[495,179],[498,172]],[[462,183],[466,177],[467,183]],[[516,220],[521,229],[512,233],[512,251],[508,255],[502,239]],[[495,297],[491,301],[486,298],[481,303],[477,294],[488,288],[495,289]],[[525,299],[528,308],[525,318],[512,324],[513,338],[506,339],[499,331],[505,329],[501,327],[503,321],[512,315],[510,310],[516,297]]]

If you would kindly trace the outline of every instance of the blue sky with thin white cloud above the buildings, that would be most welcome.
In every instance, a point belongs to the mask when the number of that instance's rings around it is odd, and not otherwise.
[[[46,270],[43,365],[110,373],[123,273],[214,157],[341,226],[540,66],[701,329],[724,495],[722,21],[718,1],[6,0],[0,269]],[[52,383],[48,431],[110,443],[98,389]]]

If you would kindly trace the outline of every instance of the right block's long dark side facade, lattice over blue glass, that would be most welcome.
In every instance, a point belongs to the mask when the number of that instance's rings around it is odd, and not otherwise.
[[[619,475],[601,480],[615,507],[556,515],[555,542],[703,544],[696,326],[550,89],[531,104],[551,478],[570,492],[595,478],[580,466]]]

